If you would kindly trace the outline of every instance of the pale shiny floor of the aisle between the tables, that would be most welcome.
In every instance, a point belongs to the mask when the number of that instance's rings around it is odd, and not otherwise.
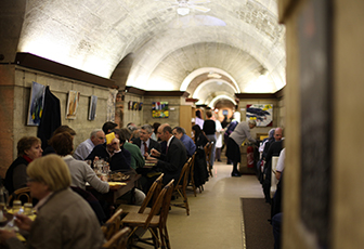
[[[172,207],[167,227],[173,249],[244,248],[239,198],[263,194],[255,175],[232,178],[231,170],[232,166],[216,162],[205,191],[197,197],[187,193],[188,217],[184,209]]]

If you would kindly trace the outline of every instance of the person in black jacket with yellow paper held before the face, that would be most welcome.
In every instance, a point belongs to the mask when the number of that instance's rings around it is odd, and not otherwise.
[[[110,170],[130,170],[131,155],[122,147],[125,140],[122,137],[113,139],[109,144],[99,144],[95,146],[86,160],[93,160],[95,157],[104,159],[109,163]]]

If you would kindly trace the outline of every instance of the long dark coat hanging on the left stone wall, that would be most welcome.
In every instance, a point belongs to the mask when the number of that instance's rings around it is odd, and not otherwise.
[[[55,129],[61,126],[61,104],[60,100],[46,87],[43,113],[38,127],[37,136],[42,142],[42,149],[48,146]]]

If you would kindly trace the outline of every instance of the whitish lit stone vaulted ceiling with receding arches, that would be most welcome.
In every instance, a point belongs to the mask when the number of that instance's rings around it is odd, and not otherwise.
[[[276,0],[196,0],[210,11],[184,16],[176,2],[28,0],[17,51],[105,78],[132,55],[127,86],[187,91],[198,104],[285,86]]]

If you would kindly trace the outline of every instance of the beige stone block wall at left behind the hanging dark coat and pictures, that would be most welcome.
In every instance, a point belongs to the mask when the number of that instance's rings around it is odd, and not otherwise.
[[[0,99],[2,100],[0,123],[2,127],[1,136],[4,137],[0,140],[0,157],[2,158],[0,175],[2,178],[17,155],[17,141],[24,135],[37,135],[37,127],[26,124],[32,81],[49,86],[51,92],[58,97],[62,124],[67,124],[77,132],[74,140],[75,148],[89,137],[93,129],[102,128],[106,121],[108,88],[14,65],[1,65],[0,71]],[[69,90],[80,92],[77,116],[73,120],[65,118]],[[93,121],[88,120],[91,95],[98,96],[96,117]]]

